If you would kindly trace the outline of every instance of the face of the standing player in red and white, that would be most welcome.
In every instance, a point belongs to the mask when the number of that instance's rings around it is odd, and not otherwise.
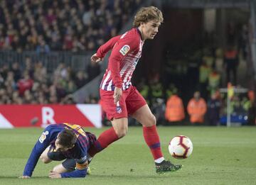
[[[156,33],[158,33],[159,26],[161,25],[160,21],[152,20],[147,23],[142,23],[142,38],[154,39]]]

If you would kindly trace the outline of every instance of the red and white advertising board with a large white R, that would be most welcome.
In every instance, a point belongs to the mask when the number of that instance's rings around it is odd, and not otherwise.
[[[98,104],[1,105],[0,128],[43,127],[54,123],[74,123],[83,127],[102,127]]]

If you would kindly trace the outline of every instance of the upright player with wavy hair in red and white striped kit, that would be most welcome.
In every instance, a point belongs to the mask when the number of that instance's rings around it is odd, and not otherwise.
[[[132,86],[134,69],[142,56],[142,47],[146,39],[154,39],[164,18],[154,6],[140,9],[134,17],[132,30],[118,35],[100,46],[92,62],[100,62],[108,51],[107,70],[100,84],[102,108],[111,120],[112,128],[105,130],[88,151],[90,157],[102,151],[112,142],[124,137],[128,130],[128,116],[142,123],[146,144],[151,150],[156,165],[156,173],[173,172],[181,165],[166,161],[161,152],[159,134],[156,130],[156,118],[151,113],[146,101],[139,91]]]

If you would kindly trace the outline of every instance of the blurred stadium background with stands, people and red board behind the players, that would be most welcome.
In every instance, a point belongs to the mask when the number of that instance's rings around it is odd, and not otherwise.
[[[1,0],[0,128],[110,125],[97,48],[157,6],[133,84],[159,125],[256,125],[256,1]],[[130,125],[139,125],[129,120]]]

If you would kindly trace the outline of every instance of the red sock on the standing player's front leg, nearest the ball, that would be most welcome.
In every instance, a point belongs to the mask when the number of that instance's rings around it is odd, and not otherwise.
[[[149,146],[154,159],[159,159],[160,157],[163,157],[163,154],[161,152],[159,135],[156,130],[156,125],[150,127],[143,127],[143,135],[144,140]]]

